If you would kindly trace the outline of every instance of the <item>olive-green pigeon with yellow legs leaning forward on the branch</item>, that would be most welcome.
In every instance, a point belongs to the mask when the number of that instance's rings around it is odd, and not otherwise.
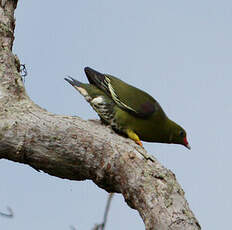
[[[89,84],[64,78],[97,112],[104,124],[138,145],[141,141],[180,144],[191,149],[186,131],[168,118],[148,93],[109,74],[84,68]]]

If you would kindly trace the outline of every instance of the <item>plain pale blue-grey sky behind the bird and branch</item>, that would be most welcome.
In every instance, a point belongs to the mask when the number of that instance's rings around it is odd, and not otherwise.
[[[19,1],[13,52],[25,63],[32,100],[56,114],[97,118],[64,81],[83,68],[110,73],[150,93],[182,125],[192,150],[145,143],[171,169],[202,229],[230,229],[232,207],[232,1]],[[92,229],[107,193],[27,165],[0,161],[0,229]],[[121,194],[106,230],[144,229]]]

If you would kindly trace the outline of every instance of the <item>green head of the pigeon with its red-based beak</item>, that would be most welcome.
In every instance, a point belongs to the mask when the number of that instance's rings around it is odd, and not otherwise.
[[[181,144],[184,145],[186,148],[191,149],[187,141],[187,134],[185,130],[177,124],[172,127],[170,142],[174,144]]]

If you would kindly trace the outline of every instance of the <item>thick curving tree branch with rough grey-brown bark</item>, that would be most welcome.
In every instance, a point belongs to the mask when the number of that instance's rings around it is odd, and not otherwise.
[[[142,157],[144,149],[98,121],[55,115],[30,100],[12,53],[17,1],[0,3],[0,159],[122,193],[146,229],[200,229],[175,175]]]

